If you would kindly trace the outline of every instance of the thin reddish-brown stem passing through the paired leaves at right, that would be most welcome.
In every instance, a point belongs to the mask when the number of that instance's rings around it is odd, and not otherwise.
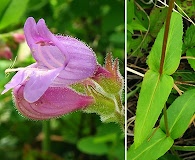
[[[166,17],[165,31],[164,31],[164,38],[163,38],[163,45],[162,45],[162,54],[161,54],[161,60],[160,60],[160,69],[159,69],[160,75],[162,75],[162,73],[163,73],[163,66],[164,66],[164,61],[165,61],[167,41],[168,41],[168,35],[169,35],[169,27],[170,27],[170,21],[171,21],[172,10],[173,10],[173,7],[174,7],[174,2],[175,2],[175,0],[170,0],[169,1],[169,8],[168,8],[168,13],[167,13],[167,17]],[[166,108],[166,106],[164,106],[164,108],[163,108],[163,114],[164,114],[164,123],[165,123],[166,135],[168,137],[168,136],[170,136],[170,133],[169,133],[169,128],[168,128],[167,108]]]

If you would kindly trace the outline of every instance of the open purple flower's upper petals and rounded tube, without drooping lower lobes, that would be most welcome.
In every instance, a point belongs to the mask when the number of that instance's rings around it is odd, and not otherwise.
[[[33,18],[28,18],[24,32],[33,57],[40,66],[48,69],[64,67],[54,83],[69,85],[93,75],[96,57],[83,42],[68,36],[55,36],[43,19],[36,24]]]

